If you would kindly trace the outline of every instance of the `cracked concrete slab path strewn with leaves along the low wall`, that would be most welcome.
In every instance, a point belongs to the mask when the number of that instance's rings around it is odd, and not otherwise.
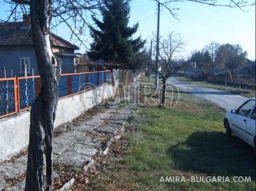
[[[70,123],[54,130],[54,165],[87,170],[96,154],[107,154],[111,141],[124,130],[134,106],[95,106]],[[27,155],[0,163],[0,190],[24,190]],[[54,169],[53,180],[60,172]]]

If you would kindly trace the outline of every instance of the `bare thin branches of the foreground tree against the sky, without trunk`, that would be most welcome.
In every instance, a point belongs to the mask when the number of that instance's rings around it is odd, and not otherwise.
[[[23,14],[28,14],[31,0],[4,0],[12,7],[6,20],[1,20],[1,25],[22,19]],[[51,22],[50,29],[64,24],[70,30],[70,41],[79,43],[80,46],[90,49],[88,38],[91,28],[91,15],[97,15],[97,11],[102,9],[105,0],[51,0],[51,18],[56,18],[56,22]],[[88,19],[89,18],[89,19]],[[86,37],[87,36],[87,37]]]

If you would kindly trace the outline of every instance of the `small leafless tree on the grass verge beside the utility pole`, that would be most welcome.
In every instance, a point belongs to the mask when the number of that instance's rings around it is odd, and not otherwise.
[[[155,35],[154,35],[154,49],[152,52],[153,57],[155,57]],[[184,49],[185,42],[181,37],[180,33],[171,31],[166,36],[160,36],[159,40],[159,67],[162,68],[164,73],[163,75],[163,90],[162,90],[162,101],[165,103],[165,90],[166,90],[166,81],[176,72],[180,71],[186,64],[185,61],[175,60],[175,56],[178,55]],[[151,68],[154,69],[154,66]],[[156,69],[154,69],[156,70]],[[157,69],[156,72],[160,72]]]

